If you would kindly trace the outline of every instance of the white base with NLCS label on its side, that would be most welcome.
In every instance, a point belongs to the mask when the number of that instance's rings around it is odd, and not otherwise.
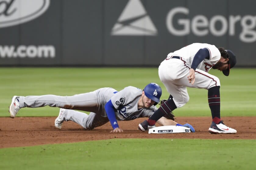
[[[190,128],[183,126],[159,126],[148,129],[148,133],[190,133]]]

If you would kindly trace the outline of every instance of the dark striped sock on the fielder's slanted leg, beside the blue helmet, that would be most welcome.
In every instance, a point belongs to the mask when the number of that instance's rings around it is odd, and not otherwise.
[[[171,112],[172,110],[174,110],[176,108],[177,108],[177,106],[174,103],[173,99],[165,101],[165,103],[162,104],[151,117],[149,117],[149,119],[148,119],[149,126],[155,125],[156,121],[158,121],[165,114]]]

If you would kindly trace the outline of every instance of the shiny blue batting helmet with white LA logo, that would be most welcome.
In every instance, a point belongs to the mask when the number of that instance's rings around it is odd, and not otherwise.
[[[156,103],[154,105],[156,105],[160,101],[160,97],[162,95],[162,89],[157,83],[149,83],[144,88],[144,93],[146,97],[155,101]]]

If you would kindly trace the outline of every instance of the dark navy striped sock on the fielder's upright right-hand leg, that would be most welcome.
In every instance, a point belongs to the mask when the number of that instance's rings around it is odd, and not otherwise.
[[[212,112],[212,121],[219,124],[220,119],[220,86],[211,87],[208,90],[208,103]]]

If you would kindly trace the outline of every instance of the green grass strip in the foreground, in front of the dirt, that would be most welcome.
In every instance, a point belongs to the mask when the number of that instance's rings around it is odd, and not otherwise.
[[[110,139],[0,149],[0,169],[254,169],[255,140]]]

